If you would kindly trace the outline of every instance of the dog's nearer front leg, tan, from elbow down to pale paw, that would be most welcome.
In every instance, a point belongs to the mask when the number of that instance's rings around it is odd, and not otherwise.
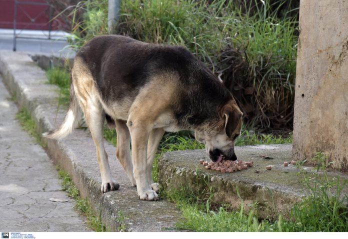
[[[141,200],[157,200],[157,193],[152,190],[147,180],[147,140],[150,133],[149,125],[141,120],[127,121],[131,137],[131,152],[133,159],[133,173],[136,189]]]

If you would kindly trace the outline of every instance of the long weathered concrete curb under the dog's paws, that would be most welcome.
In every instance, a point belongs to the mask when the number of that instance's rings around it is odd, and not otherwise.
[[[0,72],[8,89],[16,96],[19,107],[30,111],[38,133],[54,128],[62,121],[65,110],[57,108],[58,87],[46,83],[44,71],[27,53],[1,50]],[[63,140],[47,140],[47,153],[70,173],[81,195],[100,212],[107,230],[118,231],[122,225],[129,231],[175,230],[174,225],[181,218],[175,204],[166,200],[139,200],[136,188],[130,185],[121,165],[115,160],[115,148],[106,140],[104,145],[120,189],[103,194],[95,146],[87,130],[75,129]],[[126,219],[122,219],[121,214]]]

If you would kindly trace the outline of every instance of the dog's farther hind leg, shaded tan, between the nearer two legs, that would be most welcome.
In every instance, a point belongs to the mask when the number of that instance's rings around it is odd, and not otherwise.
[[[133,175],[133,163],[130,157],[130,134],[126,121],[114,120],[117,132],[116,157],[121,163],[124,171],[133,186],[136,186],[136,181]]]

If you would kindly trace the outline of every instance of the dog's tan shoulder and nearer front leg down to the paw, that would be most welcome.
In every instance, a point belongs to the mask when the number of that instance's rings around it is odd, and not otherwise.
[[[175,82],[176,79],[169,77],[175,77],[175,74],[163,72],[154,77],[140,90],[129,109],[127,126],[131,136],[133,172],[140,199],[158,199],[155,190],[150,186],[153,181],[149,175],[154,149],[147,148],[147,142],[151,131],[154,130],[150,137],[150,141],[153,142],[149,145],[155,142],[156,147],[163,135],[163,129],[158,128],[165,128],[172,124],[167,114],[175,88],[171,82]],[[147,151],[151,152],[150,155],[147,155]]]

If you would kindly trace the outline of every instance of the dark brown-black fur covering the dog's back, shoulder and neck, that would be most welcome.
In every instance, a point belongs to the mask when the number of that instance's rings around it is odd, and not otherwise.
[[[232,99],[216,76],[182,46],[104,35],[90,40],[76,56],[91,70],[94,83],[106,103],[122,101],[125,97],[134,99],[151,76],[163,71],[176,72],[178,90],[172,106],[175,119],[182,128],[193,129],[205,121],[219,118],[220,106]]]

